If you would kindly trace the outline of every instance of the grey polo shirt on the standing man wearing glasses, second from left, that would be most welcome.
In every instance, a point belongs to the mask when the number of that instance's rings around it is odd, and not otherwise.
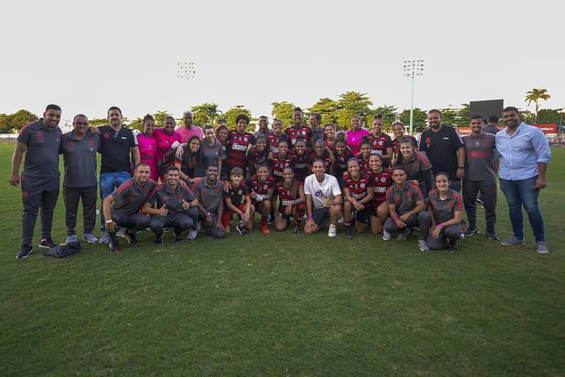
[[[61,138],[59,152],[63,154],[65,174],[63,186],[90,187],[98,185],[96,177],[96,153],[100,138],[91,132],[81,140],[75,132],[67,132]]]

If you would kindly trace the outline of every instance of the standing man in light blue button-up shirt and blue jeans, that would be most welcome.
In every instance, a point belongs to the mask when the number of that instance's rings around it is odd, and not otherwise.
[[[551,158],[549,144],[540,128],[520,122],[518,109],[509,106],[502,110],[504,130],[496,134],[497,154],[501,157],[500,188],[510,209],[514,235],[502,245],[524,245],[524,217],[522,205],[536,237],[536,251],[549,252],[545,244],[544,217],[541,216],[537,197],[546,186],[545,173]]]

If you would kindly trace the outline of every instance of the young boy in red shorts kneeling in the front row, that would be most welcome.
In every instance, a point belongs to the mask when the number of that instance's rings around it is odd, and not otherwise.
[[[221,225],[225,228],[225,233],[229,233],[229,222],[232,219],[232,213],[237,213],[240,217],[240,224],[236,226],[237,233],[241,235],[247,234],[247,229],[253,229],[253,212],[255,207],[251,205],[249,198],[249,187],[243,182],[244,171],[241,168],[233,168],[231,182],[228,186],[228,192],[225,192],[225,208],[221,216]],[[242,197],[245,196],[245,203]]]

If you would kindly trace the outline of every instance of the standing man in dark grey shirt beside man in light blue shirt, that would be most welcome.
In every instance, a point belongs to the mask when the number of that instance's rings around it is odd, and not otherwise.
[[[469,227],[465,235],[479,233],[477,228],[477,193],[481,194],[481,202],[485,207],[486,237],[498,240],[494,231],[496,224],[496,170],[495,149],[496,137],[483,132],[483,117],[473,115],[471,118],[471,135],[463,138],[465,144],[465,178],[463,178],[463,204],[467,212]]]

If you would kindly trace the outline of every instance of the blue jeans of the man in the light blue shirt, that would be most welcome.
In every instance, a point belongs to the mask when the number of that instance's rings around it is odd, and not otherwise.
[[[522,215],[522,205],[524,205],[536,242],[540,242],[545,241],[545,232],[544,217],[541,216],[540,206],[537,204],[540,190],[536,188],[536,181],[537,175],[516,181],[500,178],[500,188],[508,202],[514,237],[524,238],[524,216]]]

